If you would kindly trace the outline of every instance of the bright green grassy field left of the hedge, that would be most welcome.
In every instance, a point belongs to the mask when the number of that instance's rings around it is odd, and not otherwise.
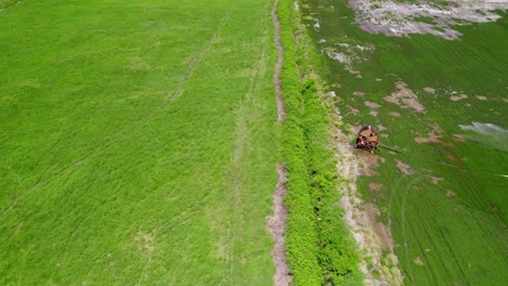
[[[269,285],[274,1],[0,1],[0,285]]]

